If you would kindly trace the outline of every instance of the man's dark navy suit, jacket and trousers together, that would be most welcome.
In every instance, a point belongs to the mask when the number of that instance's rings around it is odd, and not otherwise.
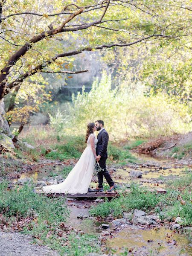
[[[101,158],[99,160],[99,165],[100,168],[102,169],[101,172],[98,172],[97,176],[98,176],[98,181],[99,181],[99,188],[103,187],[103,176],[105,177],[105,179],[107,180],[109,186],[114,186],[114,182],[111,179],[111,176],[109,174],[109,172],[106,170],[106,160],[108,158],[108,151],[107,151],[107,147],[108,147],[108,141],[109,141],[109,135],[107,133],[107,131],[105,131],[105,129],[102,129],[102,131],[99,132],[98,136],[97,136],[97,147],[96,147],[96,154],[97,156],[100,155]]]

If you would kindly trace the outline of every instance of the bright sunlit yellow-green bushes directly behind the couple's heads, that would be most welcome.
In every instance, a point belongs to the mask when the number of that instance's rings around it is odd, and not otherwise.
[[[156,137],[192,129],[190,106],[176,103],[163,92],[146,93],[148,87],[143,84],[132,85],[130,88],[124,82],[112,89],[111,76],[104,72],[89,93],[83,88],[82,93],[73,95],[63,132],[81,134],[88,122],[101,118],[111,140]],[[98,104],[97,113],[92,106]]]

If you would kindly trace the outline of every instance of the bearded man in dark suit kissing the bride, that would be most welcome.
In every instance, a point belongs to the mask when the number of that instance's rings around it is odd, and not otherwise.
[[[97,174],[99,185],[93,190],[97,192],[103,191],[103,176],[104,176],[110,186],[110,189],[108,190],[108,192],[111,192],[117,187],[117,185],[115,185],[115,183],[111,178],[111,175],[106,169],[106,160],[108,158],[107,146],[109,141],[109,135],[107,131],[105,131],[104,129],[104,122],[102,120],[97,120],[95,125],[97,128],[97,131],[99,131],[99,134],[97,136],[98,143],[96,147],[96,154],[97,154],[96,160],[99,161],[99,166],[102,169],[102,171],[98,172]]]

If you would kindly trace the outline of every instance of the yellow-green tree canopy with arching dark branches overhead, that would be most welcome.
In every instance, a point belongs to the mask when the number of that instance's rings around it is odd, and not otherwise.
[[[40,72],[85,72],[71,64],[83,51],[146,44],[172,53],[190,49],[190,3],[0,0],[0,99],[29,77],[38,82]]]

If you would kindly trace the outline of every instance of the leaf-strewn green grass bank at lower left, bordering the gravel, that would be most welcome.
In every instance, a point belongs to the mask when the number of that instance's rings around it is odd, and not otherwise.
[[[84,256],[100,252],[97,236],[76,235],[65,224],[69,215],[65,198],[47,198],[34,193],[33,186],[7,189],[8,183],[0,183],[1,223],[9,229],[22,231],[34,237],[34,241],[58,250],[61,255]],[[69,232],[69,234],[68,234]]]

